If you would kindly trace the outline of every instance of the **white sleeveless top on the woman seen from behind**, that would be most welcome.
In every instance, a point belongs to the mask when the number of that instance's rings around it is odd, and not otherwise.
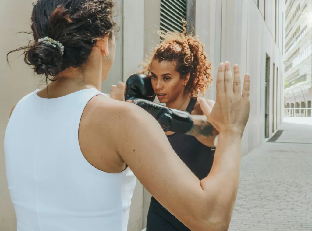
[[[17,231],[125,231],[136,178],[129,168],[90,165],[78,142],[80,118],[97,89],[44,99],[37,91],[15,107],[4,139]]]

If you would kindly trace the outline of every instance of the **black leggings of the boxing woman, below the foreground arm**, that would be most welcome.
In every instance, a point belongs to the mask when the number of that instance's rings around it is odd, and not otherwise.
[[[152,197],[146,231],[191,231]]]

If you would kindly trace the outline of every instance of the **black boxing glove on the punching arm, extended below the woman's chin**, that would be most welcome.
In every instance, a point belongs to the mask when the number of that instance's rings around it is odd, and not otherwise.
[[[193,127],[193,119],[188,112],[167,108],[145,99],[133,99],[133,103],[150,113],[164,132],[186,133]]]

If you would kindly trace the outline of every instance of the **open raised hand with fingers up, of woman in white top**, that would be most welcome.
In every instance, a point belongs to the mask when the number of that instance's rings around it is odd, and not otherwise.
[[[234,132],[242,136],[248,122],[250,76],[245,75],[241,92],[240,74],[239,65],[234,65],[233,86],[230,63],[221,63],[217,74],[217,97],[214,107],[211,109],[206,100],[199,98],[202,111],[219,133]]]

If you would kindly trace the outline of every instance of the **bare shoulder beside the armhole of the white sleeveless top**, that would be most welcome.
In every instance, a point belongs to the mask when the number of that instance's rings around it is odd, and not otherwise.
[[[141,123],[153,119],[133,103],[103,95],[95,96],[87,103],[80,120],[79,144],[82,154],[101,171],[123,171],[126,162],[120,155],[120,147],[127,147],[129,137],[135,137],[135,132],[142,128]]]

